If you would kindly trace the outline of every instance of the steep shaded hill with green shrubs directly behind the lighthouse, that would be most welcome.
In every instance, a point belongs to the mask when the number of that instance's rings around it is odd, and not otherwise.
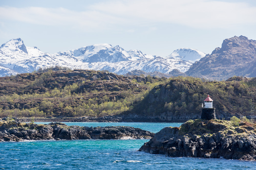
[[[217,108],[217,118],[233,115],[251,116],[256,79],[234,76],[227,81],[207,82],[194,77],[174,77],[155,86],[145,98],[125,115],[142,115],[144,119],[199,119],[202,103],[209,94]],[[254,108],[253,108],[254,109]],[[140,117],[140,116],[139,116]]]

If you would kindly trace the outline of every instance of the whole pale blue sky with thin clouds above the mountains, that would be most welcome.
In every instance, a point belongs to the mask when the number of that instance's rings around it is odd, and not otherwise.
[[[0,1],[0,44],[56,53],[108,43],[167,56],[189,47],[206,54],[225,38],[256,40],[256,1]]]

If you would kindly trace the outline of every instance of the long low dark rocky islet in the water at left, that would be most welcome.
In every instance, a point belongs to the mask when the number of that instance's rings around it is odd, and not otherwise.
[[[128,126],[67,126],[56,122],[49,124],[0,122],[0,141],[71,140],[71,139],[150,139],[154,133]]]

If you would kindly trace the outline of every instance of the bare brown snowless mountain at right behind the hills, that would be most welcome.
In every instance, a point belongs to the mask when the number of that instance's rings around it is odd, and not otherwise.
[[[221,48],[195,62],[185,73],[210,80],[226,80],[235,75],[256,77],[256,41],[242,35],[228,38]]]

